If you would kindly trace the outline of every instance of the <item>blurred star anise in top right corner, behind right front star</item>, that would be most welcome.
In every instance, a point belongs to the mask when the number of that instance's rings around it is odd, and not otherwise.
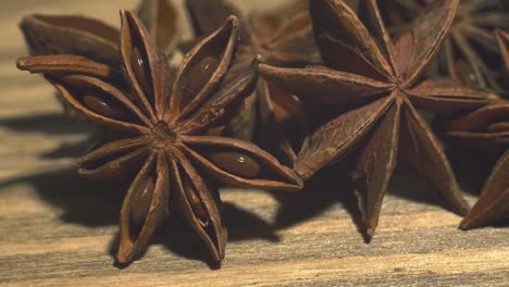
[[[388,0],[384,14],[392,25],[408,25],[424,13],[433,2],[442,0]],[[462,0],[449,36],[432,65],[431,74],[446,74],[471,87],[504,92],[500,75],[500,54],[493,32],[509,29],[509,13],[505,0]],[[507,90],[505,91],[507,93]]]

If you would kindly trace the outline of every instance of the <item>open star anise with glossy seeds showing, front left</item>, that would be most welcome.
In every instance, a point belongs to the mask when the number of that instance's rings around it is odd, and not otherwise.
[[[235,68],[238,21],[232,16],[186,54],[174,76],[139,18],[127,11],[121,18],[120,51],[131,89],[102,80],[109,66],[84,58],[80,66],[65,62],[71,55],[48,55],[52,61],[44,55],[23,58],[17,65],[44,73],[70,112],[115,135],[78,160],[78,173],[135,177],[121,211],[120,263],[129,263],[146,250],[170,207],[181,210],[212,259],[221,261],[226,229],[211,178],[261,189],[301,187],[291,170],[257,146],[208,134],[252,92],[258,59],[247,70]],[[76,75],[77,68],[84,73]]]

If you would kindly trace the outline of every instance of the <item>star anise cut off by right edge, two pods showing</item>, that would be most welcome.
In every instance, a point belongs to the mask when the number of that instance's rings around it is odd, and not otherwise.
[[[481,198],[460,224],[469,229],[509,217],[509,102],[487,105],[459,118],[438,122],[444,139],[464,152],[504,155],[487,178]]]

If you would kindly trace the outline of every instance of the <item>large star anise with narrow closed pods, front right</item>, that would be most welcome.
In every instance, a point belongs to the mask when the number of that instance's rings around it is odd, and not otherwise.
[[[497,98],[448,79],[418,82],[438,51],[458,2],[437,1],[393,42],[376,1],[367,1],[367,10],[360,11],[369,15],[365,23],[344,1],[311,1],[314,37],[327,66],[260,66],[265,79],[306,103],[338,107],[339,115],[306,139],[295,170],[307,179],[358,147],[352,180],[370,237],[398,155],[442,194],[451,210],[468,212],[442,146],[417,110],[452,114]]]

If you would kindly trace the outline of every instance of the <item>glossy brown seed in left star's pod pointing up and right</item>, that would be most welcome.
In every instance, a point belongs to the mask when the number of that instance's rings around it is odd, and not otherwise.
[[[212,74],[218,68],[219,62],[212,57],[204,57],[197,64],[189,68],[189,82],[187,83],[186,95],[183,103],[188,103],[201,88],[209,82]]]

